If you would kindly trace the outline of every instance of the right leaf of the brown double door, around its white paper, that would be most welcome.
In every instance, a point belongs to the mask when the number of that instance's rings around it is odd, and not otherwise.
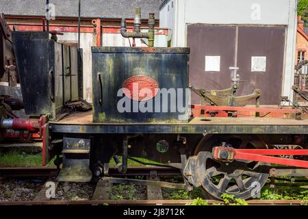
[[[285,27],[239,27],[239,94],[261,89],[261,104],[279,104],[283,82]],[[266,57],[265,71],[252,72],[251,57]]]

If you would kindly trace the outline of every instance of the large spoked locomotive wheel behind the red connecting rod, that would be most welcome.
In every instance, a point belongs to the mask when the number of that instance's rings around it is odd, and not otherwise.
[[[266,144],[257,136],[211,136],[211,146],[232,146],[235,149],[264,149]],[[207,149],[207,144],[199,149]],[[196,151],[196,175],[212,198],[222,199],[222,194],[233,194],[236,198],[251,198],[266,183],[268,168],[264,163],[235,160],[218,162],[210,151]]]

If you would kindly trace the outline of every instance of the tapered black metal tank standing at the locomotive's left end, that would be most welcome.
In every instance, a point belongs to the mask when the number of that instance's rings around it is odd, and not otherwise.
[[[25,113],[56,118],[79,97],[77,47],[49,40],[47,32],[14,31],[12,40]]]

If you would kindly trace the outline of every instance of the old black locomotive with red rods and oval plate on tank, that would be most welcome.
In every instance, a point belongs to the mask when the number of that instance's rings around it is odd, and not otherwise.
[[[154,16],[143,33],[137,12],[133,32],[123,19],[121,34],[148,47],[92,47],[92,111],[65,111],[82,102],[77,47],[47,31],[12,32],[25,112],[40,117],[43,164],[56,157],[59,181],[104,177],[110,159],[126,172],[132,157],[179,168],[188,190],[202,186],[214,198],[250,198],[269,176],[307,175],[302,108],[259,105],[261,90],[237,96],[236,75],[225,90],[194,88],[190,49],[153,47]],[[190,92],[201,105],[190,104]]]

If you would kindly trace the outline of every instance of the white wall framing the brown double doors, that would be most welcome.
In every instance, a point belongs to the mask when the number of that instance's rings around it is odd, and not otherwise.
[[[171,0],[170,0],[171,1]],[[170,2],[169,1],[169,2]],[[187,25],[238,24],[238,25],[285,25],[285,68],[282,96],[293,99],[294,59],[296,46],[297,0],[172,0],[175,4],[174,20],[168,19],[167,4],[161,9],[160,27],[172,25],[172,47],[186,47]],[[170,24],[172,23],[172,24]]]

